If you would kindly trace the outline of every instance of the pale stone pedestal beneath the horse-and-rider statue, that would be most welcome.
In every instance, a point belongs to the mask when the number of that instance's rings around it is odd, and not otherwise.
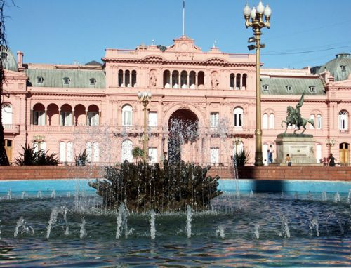
[[[315,142],[313,135],[308,134],[279,134],[277,145],[277,163],[285,163],[286,154],[290,155],[292,163],[316,164],[314,156]]]

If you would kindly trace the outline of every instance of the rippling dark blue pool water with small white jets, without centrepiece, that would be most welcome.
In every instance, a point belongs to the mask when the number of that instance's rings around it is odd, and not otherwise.
[[[296,199],[233,187],[207,212],[161,215],[101,209],[91,191],[52,192],[0,193],[0,266],[350,265],[348,191],[336,201],[336,192]]]

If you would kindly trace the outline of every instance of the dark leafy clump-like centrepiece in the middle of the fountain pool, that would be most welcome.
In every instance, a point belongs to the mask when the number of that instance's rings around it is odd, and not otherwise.
[[[211,199],[222,194],[217,190],[220,177],[206,176],[210,166],[202,168],[194,163],[180,161],[169,164],[129,163],[105,167],[105,180],[89,185],[103,199],[105,208],[117,208],[125,203],[136,213],[157,213],[207,210]]]

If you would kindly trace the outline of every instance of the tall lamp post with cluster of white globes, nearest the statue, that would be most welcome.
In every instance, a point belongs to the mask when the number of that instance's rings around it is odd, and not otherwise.
[[[270,28],[270,15],[272,10],[267,5],[263,6],[262,1],[258,3],[257,8],[252,9],[246,4],[244,8],[244,18],[246,28],[252,27],[253,35],[256,42],[256,152],[255,152],[255,166],[263,166],[262,161],[262,129],[261,129],[261,91],[260,91],[260,48],[264,46],[260,44],[260,36],[262,34],[261,28]],[[265,16],[265,22],[263,21]],[[251,18],[251,21],[250,21]]]

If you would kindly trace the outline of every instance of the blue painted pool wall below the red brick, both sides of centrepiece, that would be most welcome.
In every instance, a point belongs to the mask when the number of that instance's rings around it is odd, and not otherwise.
[[[88,182],[94,179],[58,179],[58,180],[1,180],[0,192],[33,192],[33,191],[95,191]],[[351,189],[351,182],[324,180],[251,180],[237,181],[240,191],[253,192],[339,192],[347,193]],[[235,191],[236,182],[233,179],[218,180],[218,189]]]

